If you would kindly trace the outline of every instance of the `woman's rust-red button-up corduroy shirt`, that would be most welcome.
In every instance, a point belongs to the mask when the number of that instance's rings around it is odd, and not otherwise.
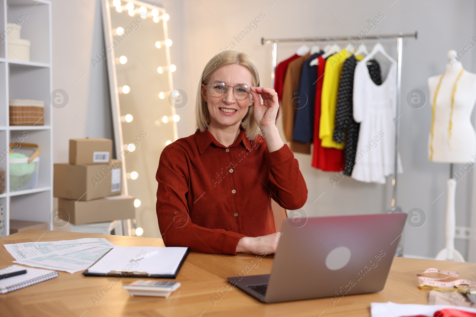
[[[250,141],[245,130],[228,148],[208,130],[178,139],[160,154],[156,179],[165,245],[195,252],[236,255],[242,237],[276,232],[271,199],[290,210],[307,200],[288,145],[269,153],[261,135]]]

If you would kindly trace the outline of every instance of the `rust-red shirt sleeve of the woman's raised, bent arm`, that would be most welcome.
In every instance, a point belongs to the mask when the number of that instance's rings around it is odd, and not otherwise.
[[[269,155],[269,189],[279,206],[296,210],[307,201],[307,186],[299,163],[287,144]]]

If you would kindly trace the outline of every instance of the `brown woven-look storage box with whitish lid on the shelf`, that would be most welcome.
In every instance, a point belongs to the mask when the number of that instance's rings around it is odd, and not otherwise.
[[[42,100],[11,99],[10,125],[44,125],[44,108]]]

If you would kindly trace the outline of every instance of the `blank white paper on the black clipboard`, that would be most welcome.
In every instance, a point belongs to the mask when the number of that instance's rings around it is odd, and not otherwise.
[[[146,253],[158,254],[141,259]],[[88,269],[89,273],[106,274],[111,270],[146,271],[153,275],[173,275],[187,248],[185,247],[114,247]],[[130,261],[131,259],[138,259]]]

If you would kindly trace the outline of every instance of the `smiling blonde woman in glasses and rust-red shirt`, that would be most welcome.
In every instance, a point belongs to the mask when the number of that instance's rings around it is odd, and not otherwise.
[[[260,85],[258,67],[244,53],[222,52],[205,66],[197,131],[160,155],[157,218],[166,246],[274,253],[280,232],[271,199],[290,210],[306,202],[297,160],[275,125],[277,93]]]

